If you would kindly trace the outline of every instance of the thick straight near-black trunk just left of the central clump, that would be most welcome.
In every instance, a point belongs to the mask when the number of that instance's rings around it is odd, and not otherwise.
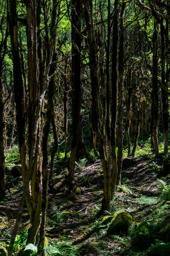
[[[80,115],[82,104],[82,90],[81,90],[81,1],[71,1],[71,39],[72,39],[72,141],[71,141],[71,155],[70,165],[68,170],[68,177],[74,179],[75,172],[75,156],[77,145],[79,141]]]

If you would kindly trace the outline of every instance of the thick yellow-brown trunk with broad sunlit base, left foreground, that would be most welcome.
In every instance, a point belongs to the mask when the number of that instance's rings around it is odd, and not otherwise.
[[[37,11],[36,0],[26,1],[26,36],[28,48],[28,67],[29,67],[29,164],[32,166],[31,183],[29,186],[30,198],[27,198],[27,207],[31,219],[31,227],[28,231],[27,243],[35,245],[39,237],[41,222],[41,197],[42,197],[42,163],[41,163],[41,129],[40,119],[36,120],[38,110],[38,99],[40,97],[40,81],[38,72],[38,43],[37,43]],[[35,125],[37,126],[36,134]],[[31,152],[32,155],[31,159]],[[32,162],[31,162],[32,161]]]

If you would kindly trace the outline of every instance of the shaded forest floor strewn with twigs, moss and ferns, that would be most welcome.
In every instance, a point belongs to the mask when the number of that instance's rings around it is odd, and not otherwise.
[[[66,160],[64,162],[66,164]],[[49,181],[46,218],[48,246],[57,247],[65,256],[146,255],[145,250],[134,251],[130,235],[109,236],[109,223],[102,224],[100,220],[101,216],[113,216],[116,211],[122,210],[135,216],[139,222],[154,221],[160,202],[157,193],[159,194],[162,179],[155,174],[155,168],[163,170],[162,159],[153,160],[150,156],[125,158],[121,186],[117,187],[109,210],[104,212],[100,211],[104,186],[101,162],[85,164],[82,161],[77,164],[72,190],[64,178],[66,168],[63,169],[62,164],[61,161],[57,165],[57,171],[54,171],[53,178]],[[167,179],[170,177],[167,176]],[[16,208],[22,193],[22,177],[13,178],[8,185],[3,205]],[[159,212],[158,218],[166,215],[169,210],[170,207]],[[0,240],[8,244],[17,212],[0,209],[0,216]],[[14,255],[18,255],[24,245],[28,227],[29,214],[24,211]]]

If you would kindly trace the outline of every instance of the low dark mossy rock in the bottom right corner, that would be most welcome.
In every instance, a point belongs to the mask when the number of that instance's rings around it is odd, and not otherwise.
[[[148,256],[170,256],[170,243],[151,246],[147,251]]]

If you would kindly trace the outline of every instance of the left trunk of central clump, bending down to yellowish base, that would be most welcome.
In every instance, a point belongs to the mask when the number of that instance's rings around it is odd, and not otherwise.
[[[86,29],[88,35],[88,49],[89,49],[89,66],[91,73],[91,119],[92,130],[96,134],[99,155],[102,162],[102,168],[104,173],[104,199],[102,201],[102,209],[108,209],[111,199],[111,172],[108,168],[108,162],[104,150],[104,140],[101,128],[101,95],[99,90],[99,80],[97,77],[97,61],[96,61],[96,44],[94,36],[94,24],[93,24],[93,1],[82,1],[84,4],[84,17],[86,22]],[[90,9],[90,11],[89,11]]]

